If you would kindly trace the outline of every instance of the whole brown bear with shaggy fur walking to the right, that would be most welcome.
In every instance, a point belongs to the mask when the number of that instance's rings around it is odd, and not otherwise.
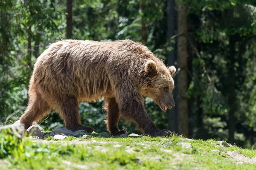
[[[105,97],[105,122],[111,135],[127,133],[117,127],[122,116],[147,135],[166,136],[171,132],[157,129],[145,111],[143,96],[154,99],[163,111],[172,108],[175,71],[174,66],[167,68],[144,45],[131,40],[58,41],[35,63],[28,107],[20,122],[28,128],[55,109],[67,129],[93,131],[81,125],[79,101]]]

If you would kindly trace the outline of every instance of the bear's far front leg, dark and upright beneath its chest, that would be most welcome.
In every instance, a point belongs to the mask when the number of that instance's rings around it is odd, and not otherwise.
[[[107,120],[105,122],[111,135],[116,136],[127,133],[125,130],[119,130],[117,127],[120,113],[116,98],[106,98],[104,104],[104,108],[107,111]]]

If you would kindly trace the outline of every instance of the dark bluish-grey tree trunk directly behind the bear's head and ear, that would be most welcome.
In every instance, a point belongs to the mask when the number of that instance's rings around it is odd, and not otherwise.
[[[176,47],[175,44],[171,42],[171,37],[175,35],[176,20],[175,20],[175,0],[167,0],[167,42],[169,42],[169,47],[172,48],[172,51],[167,53],[167,65],[175,65],[176,59]],[[174,91],[174,100],[175,108],[167,110],[167,118],[169,123],[169,130],[178,133],[178,100],[177,100],[177,76],[174,77],[175,82],[175,91]]]

